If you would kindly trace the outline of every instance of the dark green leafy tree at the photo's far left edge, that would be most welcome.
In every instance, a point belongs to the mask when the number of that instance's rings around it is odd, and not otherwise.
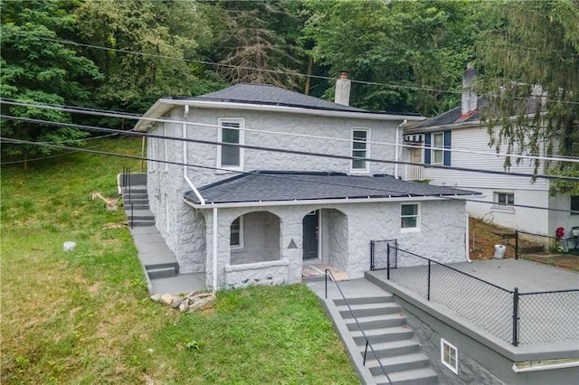
[[[74,30],[69,2],[2,1],[0,93],[4,99],[56,105],[79,105],[90,100],[90,85],[100,80],[95,64],[58,40]],[[69,114],[42,108],[3,106],[3,114],[70,122]],[[53,127],[3,120],[2,136],[67,143],[88,134],[69,127]],[[51,148],[4,143],[2,155],[23,158],[46,155]],[[24,167],[27,163],[24,162]]]

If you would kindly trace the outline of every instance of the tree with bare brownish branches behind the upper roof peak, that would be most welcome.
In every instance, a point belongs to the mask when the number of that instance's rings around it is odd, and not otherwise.
[[[306,56],[299,45],[300,2],[214,2],[214,60],[223,80],[292,89],[303,82]]]

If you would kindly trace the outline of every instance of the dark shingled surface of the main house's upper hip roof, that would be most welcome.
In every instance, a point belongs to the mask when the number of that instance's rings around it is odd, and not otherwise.
[[[199,101],[217,101],[226,103],[322,109],[329,111],[358,112],[367,114],[378,113],[362,108],[344,106],[328,100],[314,98],[308,95],[300,94],[299,92],[290,91],[289,89],[280,89],[279,87],[266,84],[237,84],[227,89],[222,89],[216,92],[189,99]]]

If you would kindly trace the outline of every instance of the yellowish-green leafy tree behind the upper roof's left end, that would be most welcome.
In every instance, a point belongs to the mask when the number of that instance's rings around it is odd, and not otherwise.
[[[81,38],[95,46],[87,54],[106,77],[100,105],[140,113],[163,96],[214,90],[215,76],[196,63],[199,44],[211,39],[204,7],[193,0],[82,2]]]

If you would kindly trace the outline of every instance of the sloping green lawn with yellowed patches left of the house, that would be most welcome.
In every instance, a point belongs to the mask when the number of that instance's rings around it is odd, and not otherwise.
[[[91,147],[139,155],[136,138]],[[220,292],[180,314],[149,300],[115,175],[140,162],[73,154],[2,168],[2,383],[356,383],[305,286]],[[72,240],[77,248],[62,250]]]

